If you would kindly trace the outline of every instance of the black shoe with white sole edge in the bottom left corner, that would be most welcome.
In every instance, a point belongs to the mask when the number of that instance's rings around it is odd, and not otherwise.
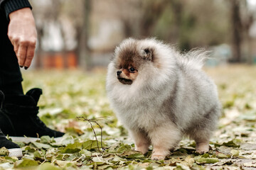
[[[4,133],[0,129],[0,148],[5,147],[9,150],[9,157],[22,157],[21,148],[14,142],[7,140]]]

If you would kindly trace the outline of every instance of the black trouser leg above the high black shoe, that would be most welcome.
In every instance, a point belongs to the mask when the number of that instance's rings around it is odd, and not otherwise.
[[[8,25],[4,11],[0,10],[0,90],[5,95],[23,94],[23,79],[14,46],[7,35]]]

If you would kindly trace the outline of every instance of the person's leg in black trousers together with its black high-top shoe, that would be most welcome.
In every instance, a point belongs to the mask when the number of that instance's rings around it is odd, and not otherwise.
[[[47,128],[38,118],[38,100],[41,89],[23,94],[21,71],[14,47],[7,36],[8,21],[0,11],[0,91],[3,92],[0,108],[0,128],[5,135],[15,137],[61,137],[63,132]]]

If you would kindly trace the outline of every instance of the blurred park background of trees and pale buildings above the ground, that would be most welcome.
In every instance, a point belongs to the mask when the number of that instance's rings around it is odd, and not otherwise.
[[[211,50],[207,65],[256,62],[254,0],[31,0],[35,68],[106,67],[124,38],[156,37]]]

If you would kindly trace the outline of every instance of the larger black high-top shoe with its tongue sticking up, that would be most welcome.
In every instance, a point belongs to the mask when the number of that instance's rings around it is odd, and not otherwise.
[[[14,137],[62,137],[63,132],[47,128],[38,118],[38,100],[42,94],[41,89],[31,89],[22,96],[0,95],[2,108],[0,109],[0,128],[4,134]]]

